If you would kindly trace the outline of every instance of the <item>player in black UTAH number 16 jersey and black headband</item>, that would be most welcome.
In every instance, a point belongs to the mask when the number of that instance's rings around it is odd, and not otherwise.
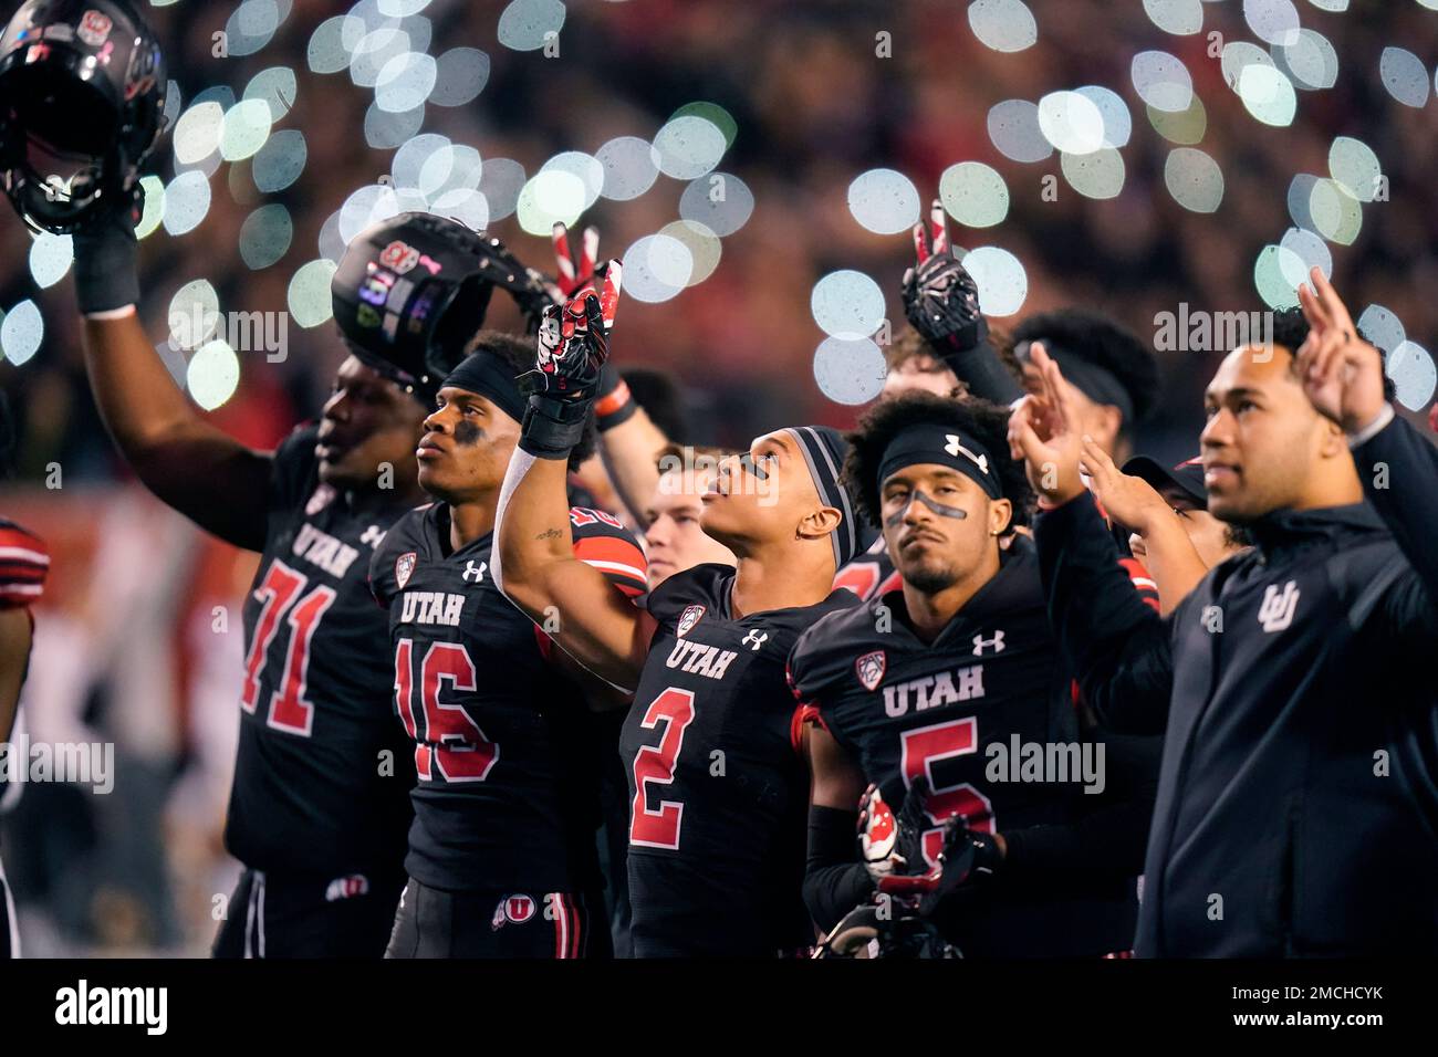
[[[482,332],[424,420],[418,479],[370,580],[388,610],[394,700],[414,741],[414,824],[394,958],[578,958],[608,951],[598,894],[598,768],[585,687],[495,585],[495,508],[519,439],[529,344]],[[578,466],[592,436],[571,452]],[[571,508],[575,561],[618,604],[647,590],[613,515]],[[562,613],[545,627],[561,627]],[[592,680],[587,680],[592,682]]]

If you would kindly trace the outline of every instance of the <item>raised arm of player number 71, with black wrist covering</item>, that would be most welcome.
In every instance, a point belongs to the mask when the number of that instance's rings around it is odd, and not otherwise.
[[[139,282],[128,217],[75,236],[75,292],[91,391],[135,475],[201,528],[262,549],[272,459],[206,421],[170,377],[135,308]]]

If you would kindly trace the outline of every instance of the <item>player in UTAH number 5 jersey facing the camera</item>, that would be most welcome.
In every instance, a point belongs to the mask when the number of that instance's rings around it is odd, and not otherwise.
[[[805,896],[828,929],[876,890],[923,892],[966,956],[1126,951],[1153,774],[1076,710],[1032,542],[999,545],[1031,502],[1007,417],[909,393],[850,436],[846,473],[903,581],[817,621],[789,659],[821,722]],[[1063,771],[1031,769],[1035,752]],[[906,801],[922,821],[866,863],[856,805],[870,784],[866,823],[892,824],[880,804]]]

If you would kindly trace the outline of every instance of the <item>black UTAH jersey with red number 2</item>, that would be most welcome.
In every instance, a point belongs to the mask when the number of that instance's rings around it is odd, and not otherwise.
[[[620,751],[630,785],[634,953],[777,955],[814,942],[804,910],[808,768],[789,649],[857,600],[735,620],[735,571],[699,565],[660,584],[657,621]]]

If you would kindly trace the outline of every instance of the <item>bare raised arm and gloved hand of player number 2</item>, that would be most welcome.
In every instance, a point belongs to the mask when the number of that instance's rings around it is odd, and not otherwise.
[[[584,288],[564,308],[545,309],[538,367],[523,378],[529,410],[499,495],[493,575],[565,653],[633,690],[653,621],[575,557],[565,490],[569,452],[584,431],[608,355],[618,282],[618,263],[610,262],[603,303]]]

